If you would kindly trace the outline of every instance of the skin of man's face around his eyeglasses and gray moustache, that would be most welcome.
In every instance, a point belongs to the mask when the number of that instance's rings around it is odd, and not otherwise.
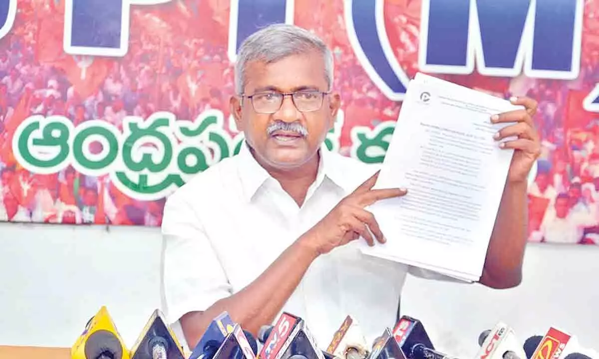
[[[292,55],[274,63],[250,62],[246,66],[244,95],[256,93],[291,93],[299,90],[327,92],[325,65],[316,51]],[[254,110],[248,98],[232,98],[232,113],[237,127],[243,130],[246,141],[255,150],[258,160],[273,168],[296,168],[310,160],[332,128],[340,105],[339,96],[325,95],[322,107],[316,111],[300,112],[291,96],[285,96],[274,114],[261,114]],[[268,127],[276,123],[304,127],[307,135],[298,132],[275,131],[269,135]]]

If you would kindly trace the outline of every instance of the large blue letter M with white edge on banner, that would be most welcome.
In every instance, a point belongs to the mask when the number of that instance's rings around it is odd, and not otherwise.
[[[422,0],[425,72],[572,79],[580,71],[583,6],[560,0]]]

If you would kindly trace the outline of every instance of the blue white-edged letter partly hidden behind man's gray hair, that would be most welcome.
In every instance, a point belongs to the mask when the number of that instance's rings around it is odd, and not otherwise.
[[[294,0],[231,0],[228,55],[237,59],[241,42],[258,29],[275,23],[294,23]]]

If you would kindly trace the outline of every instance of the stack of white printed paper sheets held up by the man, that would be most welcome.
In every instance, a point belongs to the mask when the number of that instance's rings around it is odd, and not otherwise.
[[[520,108],[416,75],[375,186],[408,193],[368,208],[387,242],[362,251],[478,281],[513,155],[493,139],[509,124],[492,124],[491,115]]]

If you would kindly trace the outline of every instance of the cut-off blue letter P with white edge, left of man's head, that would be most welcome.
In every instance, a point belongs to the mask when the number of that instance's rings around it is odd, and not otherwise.
[[[125,56],[131,5],[170,0],[65,0],[64,50],[73,55]]]

